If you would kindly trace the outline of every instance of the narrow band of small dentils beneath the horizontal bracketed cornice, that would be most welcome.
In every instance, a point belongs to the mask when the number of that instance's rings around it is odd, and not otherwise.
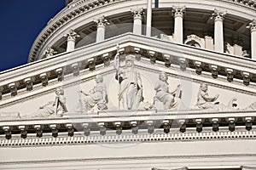
[[[49,145],[84,145],[84,144],[140,144],[140,143],[162,143],[162,142],[197,142],[197,141],[223,141],[223,140],[244,140],[256,139],[255,132],[203,132],[203,133],[154,133],[154,134],[122,134],[105,136],[60,136],[53,138],[29,137],[27,139],[0,139],[1,147],[39,147]]]

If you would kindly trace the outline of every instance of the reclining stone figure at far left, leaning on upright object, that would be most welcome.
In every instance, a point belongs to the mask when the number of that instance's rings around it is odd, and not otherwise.
[[[62,88],[55,89],[55,100],[39,107],[38,111],[32,114],[32,117],[50,117],[63,116],[67,112],[66,98]]]

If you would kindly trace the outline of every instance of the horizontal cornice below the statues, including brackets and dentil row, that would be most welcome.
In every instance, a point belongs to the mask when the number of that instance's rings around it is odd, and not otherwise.
[[[255,139],[256,132],[253,126],[255,121],[253,111],[120,110],[89,114],[67,112],[63,117],[1,120],[0,133],[5,133],[5,138],[10,140],[5,140],[2,136],[0,145],[38,144],[40,141],[43,144],[95,144],[159,140]],[[115,126],[117,123],[119,127]],[[55,138],[50,137],[50,134]],[[109,138],[109,135],[112,137]],[[43,140],[42,136],[44,136]],[[60,138],[56,138],[58,136]],[[47,143],[44,143],[45,139]]]

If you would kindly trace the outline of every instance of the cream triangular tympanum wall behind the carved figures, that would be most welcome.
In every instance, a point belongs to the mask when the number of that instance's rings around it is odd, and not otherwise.
[[[7,99],[1,101],[0,113],[2,119],[8,119],[8,115],[12,116],[9,119],[15,118],[35,118],[35,117],[55,117],[65,116],[68,113],[77,114],[99,114],[99,112],[129,112],[129,111],[252,111],[255,110],[254,102],[256,102],[255,90],[246,87],[242,82],[227,82],[224,77],[213,79],[211,75],[198,75],[195,71],[181,70],[179,66],[166,67],[165,62],[152,61],[143,56],[138,57],[137,54],[121,54],[119,55],[119,71],[125,70],[127,58],[131,58],[134,65],[132,69],[126,73],[126,79],[132,79],[126,84],[125,88],[121,89],[122,82],[116,80],[117,70],[114,68],[115,60],[111,60],[108,67],[99,65],[95,71],[84,71],[79,76],[69,76],[62,82],[49,83],[47,87],[37,88],[30,94],[23,94],[19,99]],[[136,72],[131,76],[131,71]],[[168,80],[160,81],[160,75],[165,73]],[[102,98],[102,89],[96,89],[96,77],[102,76],[104,92],[107,98]],[[130,76],[129,76],[130,75]],[[139,75],[139,79],[136,76]],[[124,75],[122,75],[124,76]],[[124,78],[124,77],[123,77]],[[162,88],[157,88],[156,85],[161,82]],[[121,90],[126,90],[132,86],[139,88],[131,89],[131,93],[141,91],[140,101],[134,108],[127,106],[127,99],[130,98],[133,102],[136,97],[127,97],[125,92],[125,102],[119,100]],[[209,99],[204,99],[206,105],[197,105],[201,85],[207,85],[208,89],[204,92]],[[56,102],[55,89],[62,88],[64,91],[63,98],[66,99],[65,105],[67,111],[63,111],[61,104]],[[100,87],[102,88],[102,86]],[[166,88],[168,88],[167,91]],[[83,91],[83,93],[81,93]],[[160,92],[160,94],[158,94]],[[217,96],[218,95],[218,99]],[[134,95],[133,95],[134,96]],[[171,99],[170,104],[166,104],[168,99]],[[211,98],[211,99],[210,99]],[[216,99],[213,99],[216,98]],[[86,101],[85,101],[86,100]],[[108,101],[107,101],[108,100]],[[87,102],[87,103],[86,103]],[[102,102],[102,103],[101,103]],[[122,103],[123,102],[123,103]],[[178,102],[178,103],[175,103]],[[124,106],[124,105],[125,106]],[[56,108],[55,105],[58,105]],[[88,106],[89,105],[89,106]],[[131,104],[132,105],[132,104]],[[166,106],[167,105],[167,106]],[[170,105],[170,106],[168,106]],[[57,111],[58,110],[58,111]],[[19,117],[20,116],[20,117]]]

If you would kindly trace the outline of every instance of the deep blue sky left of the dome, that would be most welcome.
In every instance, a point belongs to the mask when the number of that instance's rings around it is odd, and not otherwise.
[[[0,71],[27,63],[32,43],[65,0],[0,0]]]

